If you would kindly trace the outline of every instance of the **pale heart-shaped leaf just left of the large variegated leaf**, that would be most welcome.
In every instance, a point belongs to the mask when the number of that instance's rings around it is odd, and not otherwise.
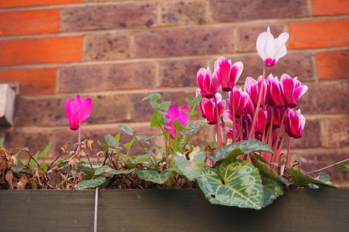
[[[196,176],[200,175],[203,170],[206,152],[200,151],[200,147],[195,147],[189,154],[190,160],[187,160],[186,156],[180,152],[174,154],[173,157],[174,162],[181,173],[188,177],[188,179],[193,180]]]

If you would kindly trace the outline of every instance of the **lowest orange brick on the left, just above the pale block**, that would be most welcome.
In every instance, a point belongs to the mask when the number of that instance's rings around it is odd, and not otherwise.
[[[21,82],[21,94],[54,94],[56,68],[0,70],[0,81]]]

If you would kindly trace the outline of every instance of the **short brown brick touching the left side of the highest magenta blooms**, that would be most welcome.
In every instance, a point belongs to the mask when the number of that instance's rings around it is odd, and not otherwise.
[[[196,86],[196,74],[199,69],[206,69],[207,61],[204,59],[190,59],[181,61],[164,61],[160,63],[161,86],[183,87]]]

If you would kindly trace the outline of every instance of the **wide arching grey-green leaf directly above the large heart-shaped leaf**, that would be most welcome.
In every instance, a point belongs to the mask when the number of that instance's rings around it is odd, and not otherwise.
[[[212,157],[211,155],[208,155],[207,157],[213,161],[218,161],[234,158],[242,154],[262,151],[273,153],[268,144],[259,142],[257,139],[248,139],[221,147],[220,149],[217,149],[215,151],[214,157]]]

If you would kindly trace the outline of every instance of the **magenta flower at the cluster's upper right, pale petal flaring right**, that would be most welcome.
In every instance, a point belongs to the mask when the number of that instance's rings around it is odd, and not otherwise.
[[[285,73],[281,75],[280,83],[287,106],[291,109],[295,108],[299,98],[308,90],[308,87],[300,85],[297,77],[292,80],[292,78]]]

